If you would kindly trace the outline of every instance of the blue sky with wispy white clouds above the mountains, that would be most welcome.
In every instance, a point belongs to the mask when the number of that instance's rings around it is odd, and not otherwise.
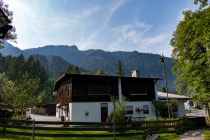
[[[170,57],[170,40],[193,0],[4,0],[20,49],[76,45],[79,50],[139,51]]]

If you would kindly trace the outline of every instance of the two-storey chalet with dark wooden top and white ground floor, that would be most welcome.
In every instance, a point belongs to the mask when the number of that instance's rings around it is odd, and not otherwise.
[[[64,74],[55,84],[56,116],[72,122],[105,122],[113,112],[111,97],[126,97],[133,120],[155,116],[158,78]]]

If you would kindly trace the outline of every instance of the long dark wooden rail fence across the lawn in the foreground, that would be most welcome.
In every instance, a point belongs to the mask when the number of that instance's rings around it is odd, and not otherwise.
[[[176,133],[181,120],[167,121],[140,121],[127,123],[96,123],[96,122],[52,122],[52,121],[25,121],[0,119],[0,133],[3,135],[21,135],[39,137],[144,137],[145,130],[153,133]],[[1,129],[2,128],[2,129]],[[44,130],[44,131],[41,131]],[[50,133],[48,133],[48,132]],[[56,133],[52,133],[52,132]],[[74,133],[74,132],[81,133]],[[82,133],[82,132],[104,133]],[[43,133],[45,132],[45,133]]]

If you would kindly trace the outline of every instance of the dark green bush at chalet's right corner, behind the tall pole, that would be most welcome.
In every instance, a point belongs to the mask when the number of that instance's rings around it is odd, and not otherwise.
[[[176,100],[169,100],[169,108],[170,108],[170,116],[173,118],[177,117],[176,109],[177,109],[177,101]],[[156,108],[158,115],[162,118],[168,118],[168,108],[166,100],[157,101]]]

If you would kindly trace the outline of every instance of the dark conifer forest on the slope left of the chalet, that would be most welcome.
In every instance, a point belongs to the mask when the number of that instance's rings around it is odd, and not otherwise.
[[[42,98],[45,98],[42,100],[44,103],[53,103],[55,101],[52,95],[54,82],[47,79],[44,68],[32,56],[25,59],[23,55],[18,57],[3,57],[0,55],[0,73],[3,72],[8,76],[9,80],[15,83],[14,88],[16,92],[22,92],[21,90],[23,89],[21,88],[25,86],[24,90],[28,89],[27,92],[31,92],[30,94],[33,94],[33,96],[39,97],[37,100],[40,101]],[[35,89],[36,91],[33,92]]]

